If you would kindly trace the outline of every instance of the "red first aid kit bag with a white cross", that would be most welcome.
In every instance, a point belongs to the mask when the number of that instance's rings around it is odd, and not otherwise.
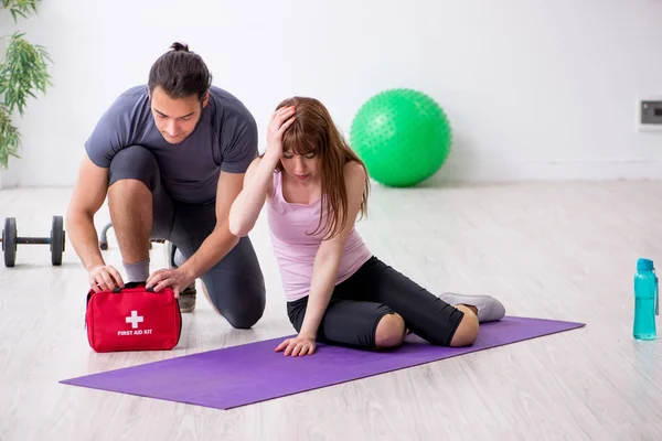
[[[87,293],[87,340],[96,352],[172,349],[182,332],[174,292],[126,283],[113,291]]]

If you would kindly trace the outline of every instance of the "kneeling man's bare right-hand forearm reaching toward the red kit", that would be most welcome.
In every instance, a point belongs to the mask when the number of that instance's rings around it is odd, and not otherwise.
[[[197,251],[180,268],[191,279],[197,279],[221,261],[239,241],[227,228],[227,224],[217,225],[202,243]]]

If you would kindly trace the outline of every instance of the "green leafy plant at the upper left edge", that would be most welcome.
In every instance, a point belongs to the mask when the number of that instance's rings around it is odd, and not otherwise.
[[[0,12],[9,11],[18,24],[20,18],[36,14],[40,1],[0,0]],[[0,57],[0,173],[2,169],[9,169],[10,157],[20,158],[21,133],[12,116],[18,110],[22,117],[28,99],[36,97],[36,93],[45,94],[51,85],[49,53],[43,46],[30,43],[24,35],[17,31],[2,37],[6,51]]]

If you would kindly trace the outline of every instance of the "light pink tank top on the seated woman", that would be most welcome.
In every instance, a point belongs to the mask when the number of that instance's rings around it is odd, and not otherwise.
[[[312,204],[289,203],[282,197],[280,172],[274,173],[268,222],[285,298],[291,302],[308,295],[314,257],[322,243],[323,225],[314,236],[320,220],[321,200]],[[371,252],[355,228],[348,236],[338,267],[335,284],[346,280],[371,258]]]

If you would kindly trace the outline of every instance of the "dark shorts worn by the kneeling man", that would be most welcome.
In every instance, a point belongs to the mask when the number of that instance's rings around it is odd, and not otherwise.
[[[214,229],[215,201],[185,204],[172,200],[161,184],[159,164],[147,149],[134,146],[115,155],[109,169],[109,185],[124,179],[139,180],[151,191],[151,237],[173,243],[185,259]],[[242,237],[201,279],[214,308],[234,327],[250,327],[261,318],[266,303],[265,282],[248,237]]]

